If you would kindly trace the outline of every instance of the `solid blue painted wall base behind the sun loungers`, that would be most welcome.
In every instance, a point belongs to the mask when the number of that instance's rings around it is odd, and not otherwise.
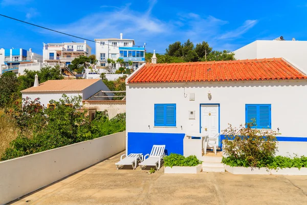
[[[128,132],[127,153],[150,154],[153,145],[165,145],[165,153],[183,155],[184,133]]]

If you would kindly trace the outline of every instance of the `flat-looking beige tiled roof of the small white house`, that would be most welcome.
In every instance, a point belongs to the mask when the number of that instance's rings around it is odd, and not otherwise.
[[[93,85],[100,79],[63,79],[48,80],[39,84],[38,87],[31,87],[21,92],[63,92],[63,91],[82,91]]]

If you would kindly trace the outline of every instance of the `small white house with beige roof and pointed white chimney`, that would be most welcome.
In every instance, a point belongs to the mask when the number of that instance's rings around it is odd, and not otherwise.
[[[37,76],[37,75],[36,75]],[[82,100],[90,98],[99,91],[109,91],[101,79],[62,79],[48,80],[45,83],[38,85],[38,80],[35,80],[34,86],[21,91],[23,98],[40,98],[41,105],[49,107],[50,100],[59,100],[63,94],[69,97],[82,96]],[[112,93],[107,93],[113,96]]]

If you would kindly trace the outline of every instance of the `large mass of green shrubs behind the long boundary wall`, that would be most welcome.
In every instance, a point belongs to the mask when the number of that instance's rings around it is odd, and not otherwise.
[[[81,96],[70,98],[62,95],[59,101],[50,101],[55,107],[47,109],[37,105],[38,99],[25,99],[23,106],[16,104],[7,116],[16,122],[19,135],[10,142],[1,160],[59,148],[126,129],[125,113],[112,119],[98,113],[90,122],[85,112],[79,111],[81,100]]]

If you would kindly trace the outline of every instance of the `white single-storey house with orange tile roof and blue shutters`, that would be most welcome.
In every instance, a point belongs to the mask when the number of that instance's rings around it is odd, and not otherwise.
[[[279,155],[307,155],[307,75],[283,58],[146,64],[126,79],[129,153],[166,145],[183,154],[186,133],[209,136],[256,119],[279,131]]]

